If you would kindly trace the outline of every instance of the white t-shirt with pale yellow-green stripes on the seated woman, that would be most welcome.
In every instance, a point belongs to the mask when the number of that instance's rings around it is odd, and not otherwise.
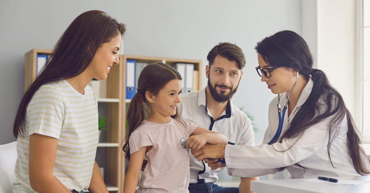
[[[89,187],[98,144],[98,103],[90,86],[84,94],[65,80],[41,86],[27,106],[25,127],[26,137],[17,139],[13,193],[34,192],[28,176],[34,133],[58,139],[53,174],[65,187],[77,192]]]

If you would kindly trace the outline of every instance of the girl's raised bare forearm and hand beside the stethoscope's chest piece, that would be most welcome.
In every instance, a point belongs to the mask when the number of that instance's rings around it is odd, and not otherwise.
[[[189,139],[186,141],[186,148],[200,149],[204,144],[219,144],[227,145],[228,139],[225,135],[219,132],[209,131],[202,127],[197,127]]]

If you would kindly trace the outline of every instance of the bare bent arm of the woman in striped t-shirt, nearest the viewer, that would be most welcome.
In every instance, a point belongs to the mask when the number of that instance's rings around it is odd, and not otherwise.
[[[58,190],[61,193],[71,193],[53,175],[57,146],[57,138],[41,134],[30,135],[28,169],[30,185],[36,192],[48,193],[50,190]]]

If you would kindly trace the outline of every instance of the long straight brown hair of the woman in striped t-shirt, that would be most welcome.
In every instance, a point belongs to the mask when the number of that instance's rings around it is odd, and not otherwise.
[[[24,137],[27,105],[42,85],[80,75],[102,44],[125,31],[125,24],[103,11],[86,11],[75,18],[55,44],[51,59],[24,93],[14,120],[14,137]]]

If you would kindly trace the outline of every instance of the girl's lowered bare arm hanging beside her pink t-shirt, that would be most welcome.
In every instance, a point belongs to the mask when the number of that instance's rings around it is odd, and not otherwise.
[[[125,181],[123,184],[124,193],[135,193],[138,184],[142,161],[144,160],[147,146],[141,147],[139,151],[130,155]]]

